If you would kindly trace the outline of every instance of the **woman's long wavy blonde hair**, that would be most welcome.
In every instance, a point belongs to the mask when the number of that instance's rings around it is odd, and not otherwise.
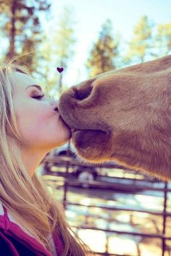
[[[64,247],[62,256],[89,255],[90,249],[64,219],[62,204],[52,198],[38,174],[28,175],[22,162],[22,138],[13,103],[15,71],[30,75],[25,67],[13,61],[0,67],[0,201],[50,252],[47,238],[57,232]]]

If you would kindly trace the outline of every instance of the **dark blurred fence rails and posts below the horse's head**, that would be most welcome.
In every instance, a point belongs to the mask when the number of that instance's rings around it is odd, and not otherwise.
[[[99,206],[99,205],[83,205],[81,203],[75,203],[75,202],[70,202],[67,199],[67,193],[68,190],[70,189],[71,186],[82,186],[83,182],[78,181],[78,180],[71,180],[70,179],[70,172],[69,172],[69,168],[75,168],[75,167],[81,167],[81,166],[86,166],[87,168],[92,168],[92,165],[90,164],[85,164],[84,162],[78,162],[78,160],[73,160],[70,157],[46,157],[46,159],[42,162],[43,165],[43,169],[44,169],[44,173],[43,175],[46,176],[57,176],[59,175],[59,170],[57,172],[52,171],[51,168],[48,167],[48,165],[52,164],[52,166],[58,166],[65,168],[64,171],[64,181],[63,181],[63,185],[62,188],[64,189],[64,195],[62,198],[62,202],[64,205],[65,210],[68,209],[68,207],[70,206],[80,206],[80,207],[88,207],[92,208],[101,208],[103,210],[114,210],[114,211],[125,211],[125,212],[143,212],[143,213],[148,213],[149,215],[159,215],[162,216],[162,232],[161,234],[146,234],[146,233],[138,233],[138,232],[128,232],[128,231],[117,231],[117,230],[111,230],[111,229],[107,229],[107,228],[96,228],[93,226],[87,226],[87,225],[83,225],[83,226],[74,226],[75,228],[77,228],[77,230],[80,229],[84,229],[84,230],[96,230],[96,231],[104,231],[107,234],[109,233],[113,233],[113,234],[128,234],[131,236],[141,236],[141,237],[150,237],[150,238],[154,238],[154,239],[161,239],[162,241],[162,255],[161,256],[165,256],[166,252],[169,253],[170,252],[170,248],[167,246],[166,241],[171,240],[171,236],[167,236],[166,235],[166,223],[167,223],[167,217],[171,217],[171,212],[169,210],[167,210],[167,201],[168,201],[168,193],[171,192],[171,189],[169,189],[167,182],[162,182],[162,181],[158,181],[160,186],[162,187],[155,187],[155,186],[144,186],[144,185],[140,185],[141,181],[147,181],[149,182],[149,184],[154,184],[156,182],[156,180],[153,180],[151,178],[148,178],[147,176],[144,178],[136,178],[136,174],[135,174],[135,178],[124,178],[124,176],[122,177],[122,179],[128,180],[128,181],[135,181],[135,182],[139,182],[139,185],[137,184],[137,186],[140,186],[141,190],[148,190],[148,191],[162,191],[163,192],[163,206],[161,211],[154,211],[154,210],[143,210],[143,209],[132,209],[130,207],[109,207],[109,206]],[[104,165],[93,165],[93,168],[106,168],[106,169],[113,169],[113,168],[119,168],[122,170],[125,170],[124,167],[122,167],[121,165],[117,165],[116,163],[112,163],[112,162],[107,162]],[[129,172],[130,170],[125,170],[125,172]],[[118,177],[112,177],[112,178],[118,178]],[[100,181],[87,181],[86,182],[88,186],[96,186],[99,187],[99,189],[104,189],[104,184],[105,184],[105,189],[110,189],[111,191],[116,191],[116,189],[114,187],[112,187],[112,183],[109,183],[107,186],[107,183],[101,183]],[[102,185],[101,185],[102,184]],[[59,186],[57,186],[59,187]],[[131,191],[130,191],[131,192]],[[122,193],[125,193],[124,191],[122,191]],[[134,192],[135,194],[135,192]],[[91,217],[96,217],[98,218],[98,215],[91,215],[90,213],[87,213],[87,218],[91,218]],[[107,247],[107,245],[106,245]],[[117,255],[117,254],[111,254],[109,252],[95,252],[96,255],[105,255],[105,256],[121,256],[121,255]],[[170,255],[170,254],[169,254]],[[122,255],[122,256],[141,256],[141,252],[138,249],[138,255]]]

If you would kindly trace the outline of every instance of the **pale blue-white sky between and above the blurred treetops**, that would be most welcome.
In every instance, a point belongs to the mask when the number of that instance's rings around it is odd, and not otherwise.
[[[143,15],[157,24],[171,22],[170,0],[52,0],[52,3],[56,22],[64,6],[72,7],[73,17],[77,22],[75,57],[67,72],[64,72],[64,83],[67,86],[88,78],[85,70],[88,51],[98,38],[105,20],[112,20],[113,32],[120,33],[124,41],[130,40],[133,28]]]

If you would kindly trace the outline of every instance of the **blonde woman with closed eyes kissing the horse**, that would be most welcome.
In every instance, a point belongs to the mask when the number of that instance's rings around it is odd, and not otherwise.
[[[43,157],[70,136],[57,102],[24,67],[0,67],[1,256],[88,255],[36,175]]]

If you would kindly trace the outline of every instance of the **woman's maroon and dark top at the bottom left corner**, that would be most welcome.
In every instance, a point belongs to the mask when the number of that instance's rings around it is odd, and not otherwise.
[[[9,219],[7,209],[3,206],[4,215],[0,215],[0,255],[1,256],[54,256],[36,238]],[[53,234],[57,256],[62,253],[62,242]]]

